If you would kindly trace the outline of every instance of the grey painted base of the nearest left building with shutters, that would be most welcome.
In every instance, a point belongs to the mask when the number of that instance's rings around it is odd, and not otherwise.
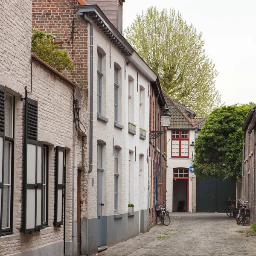
[[[53,244],[48,244],[43,247],[39,247],[33,250],[25,251],[22,253],[12,254],[15,256],[63,256],[64,244],[63,241],[59,241]]]

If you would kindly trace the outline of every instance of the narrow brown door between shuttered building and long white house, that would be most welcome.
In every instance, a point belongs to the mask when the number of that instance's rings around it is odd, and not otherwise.
[[[77,218],[77,255],[81,255],[81,167],[77,169],[77,208],[76,208],[76,218]]]

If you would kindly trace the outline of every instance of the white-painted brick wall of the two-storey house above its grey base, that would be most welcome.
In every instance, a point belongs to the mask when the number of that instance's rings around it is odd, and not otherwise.
[[[110,46],[111,46],[111,64],[110,64]],[[108,118],[108,123],[97,120],[97,49],[100,47],[105,52],[102,61],[102,69],[106,81],[105,103],[102,104],[102,115]],[[114,157],[113,157],[113,140],[114,145],[121,147],[122,165],[119,167],[121,173],[119,179],[118,192],[118,212],[128,212],[128,156],[129,150],[134,151],[136,146],[136,163],[134,163],[134,206],[139,210],[139,162],[140,154],[144,154],[143,170],[143,206],[141,209],[147,209],[147,183],[148,183],[148,163],[147,149],[149,143],[149,82],[139,73],[139,88],[142,85],[145,88],[145,130],[147,130],[146,140],[140,139],[140,89],[137,92],[137,70],[130,65],[125,67],[125,56],[117,49],[111,41],[99,30],[97,26],[93,27],[93,171],[88,177],[88,207],[89,218],[97,216],[97,140],[102,140],[105,155],[103,157],[103,215],[114,214]],[[124,129],[114,127],[114,63],[121,67],[121,82],[119,92],[122,94],[122,100],[119,105],[121,109],[120,125]],[[104,67],[105,66],[105,67]],[[125,75],[126,69],[126,75]],[[137,125],[136,136],[128,134],[128,76],[134,78],[134,123]],[[104,99],[103,99],[104,101]],[[105,109],[103,109],[105,108]],[[119,119],[119,120],[120,120]],[[92,186],[92,179],[94,185]]]

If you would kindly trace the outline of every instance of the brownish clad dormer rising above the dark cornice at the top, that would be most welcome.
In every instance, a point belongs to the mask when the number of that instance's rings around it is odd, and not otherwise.
[[[111,23],[122,34],[122,6],[125,0],[86,0],[87,4],[97,4]]]

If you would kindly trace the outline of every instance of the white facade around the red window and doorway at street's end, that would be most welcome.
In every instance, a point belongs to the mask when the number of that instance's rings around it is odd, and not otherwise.
[[[170,140],[170,141],[169,141]],[[191,147],[189,146],[189,158],[182,159],[182,158],[172,158],[172,131],[167,131],[167,141],[169,141],[167,145],[167,173],[166,173],[166,210],[172,212],[173,209],[173,169],[174,168],[189,168],[192,166],[191,157],[192,151]],[[195,130],[189,130],[189,145],[195,141]],[[193,159],[195,156],[195,152],[193,154]],[[189,172],[189,212],[195,209],[195,179],[193,174]]]

